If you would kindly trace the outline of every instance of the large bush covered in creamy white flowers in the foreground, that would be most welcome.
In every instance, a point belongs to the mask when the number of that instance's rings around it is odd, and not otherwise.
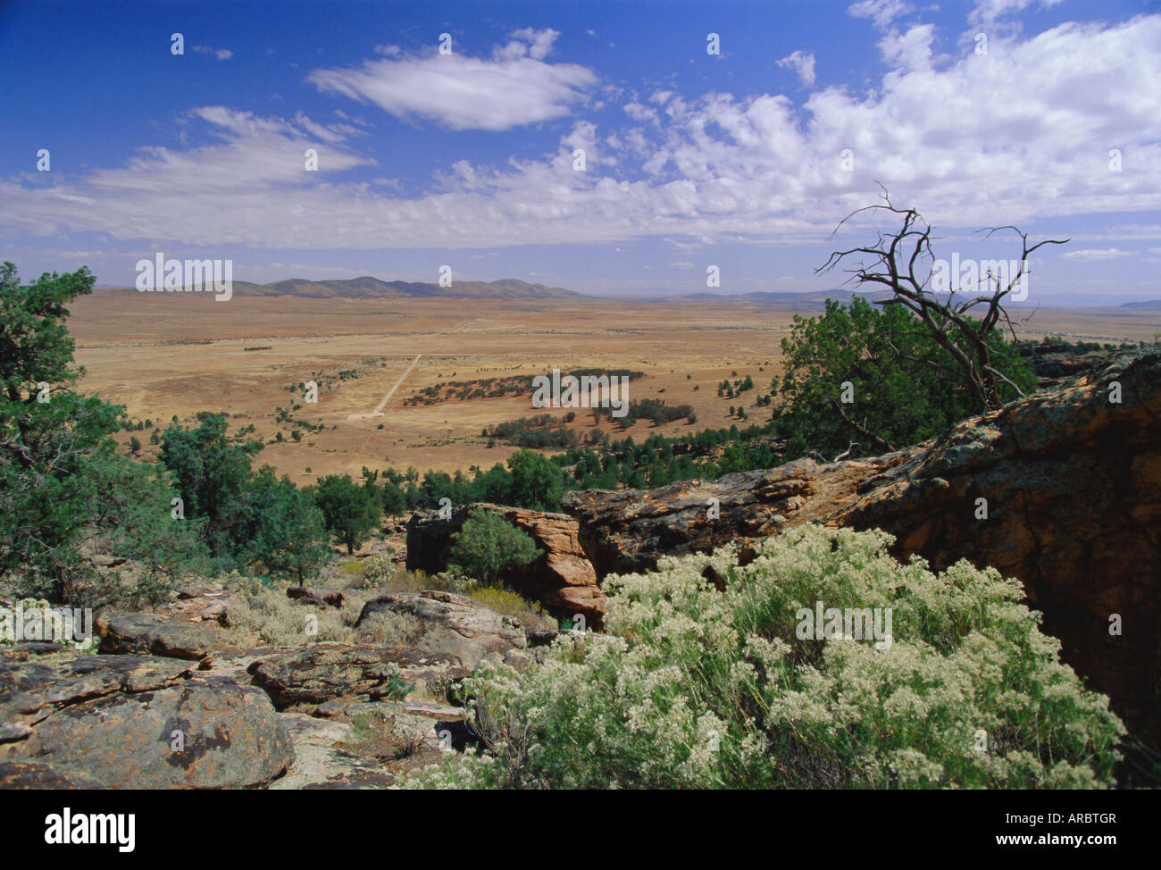
[[[901,565],[817,526],[611,577],[607,634],[466,681],[486,752],[412,788],[1103,788],[1124,726],[1019,583]],[[707,570],[726,581],[717,591]],[[890,607],[893,639],[803,640],[802,607]]]

